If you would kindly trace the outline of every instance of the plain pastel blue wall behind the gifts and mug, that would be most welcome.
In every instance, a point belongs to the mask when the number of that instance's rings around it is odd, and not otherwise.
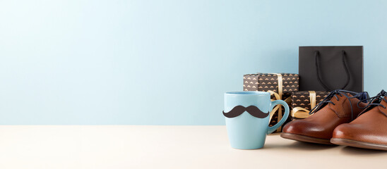
[[[0,124],[224,125],[246,73],[364,45],[387,89],[387,1],[0,1]]]

